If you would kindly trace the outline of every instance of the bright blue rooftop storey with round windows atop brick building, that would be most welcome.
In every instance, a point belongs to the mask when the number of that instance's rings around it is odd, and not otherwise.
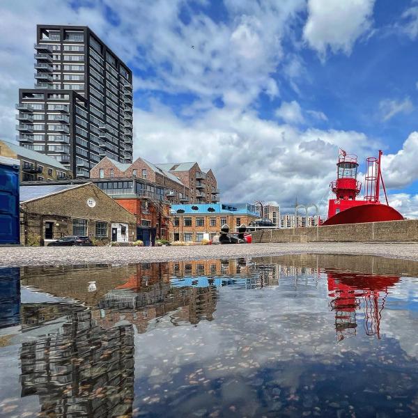
[[[180,212],[178,212],[180,210]],[[231,215],[260,216],[255,205],[249,203],[203,203],[191,205],[171,205],[171,213],[216,215],[217,213],[230,213]]]

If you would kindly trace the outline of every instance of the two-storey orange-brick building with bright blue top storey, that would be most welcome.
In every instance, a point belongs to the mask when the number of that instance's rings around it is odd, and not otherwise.
[[[240,224],[248,225],[260,217],[255,205],[248,203],[212,203],[203,205],[171,206],[174,241],[201,242],[204,234],[210,238],[219,234],[221,226],[227,224],[231,232]]]

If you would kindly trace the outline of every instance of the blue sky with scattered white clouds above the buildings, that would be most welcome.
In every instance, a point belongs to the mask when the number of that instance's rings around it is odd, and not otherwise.
[[[393,205],[418,216],[418,1],[5,0],[0,15],[6,139],[36,24],[86,24],[134,71],[135,155],[198,161],[222,201],[286,211],[327,197],[338,148],[361,168],[382,149]]]

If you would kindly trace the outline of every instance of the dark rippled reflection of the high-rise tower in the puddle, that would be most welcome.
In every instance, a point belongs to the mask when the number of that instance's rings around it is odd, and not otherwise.
[[[23,343],[22,396],[37,394],[45,417],[116,417],[132,412],[132,325],[103,330],[91,311],[72,312],[56,334]]]

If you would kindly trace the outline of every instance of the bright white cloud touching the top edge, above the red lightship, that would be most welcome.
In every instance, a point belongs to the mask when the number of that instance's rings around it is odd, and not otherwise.
[[[308,0],[303,36],[323,58],[327,49],[350,54],[355,41],[371,28],[375,0]]]

